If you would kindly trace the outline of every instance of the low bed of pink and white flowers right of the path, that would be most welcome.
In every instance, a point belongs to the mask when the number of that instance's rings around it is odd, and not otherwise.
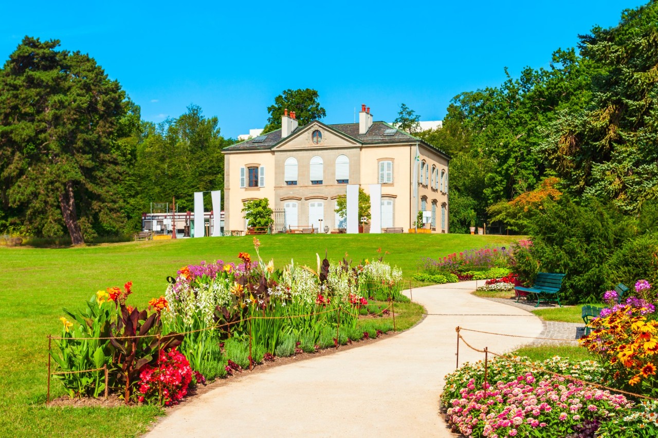
[[[572,364],[556,357],[530,363],[584,380],[605,372],[592,361]],[[492,360],[486,389],[482,362],[448,374],[441,397],[447,422],[470,437],[496,438],[649,437],[658,430],[652,420],[656,404],[636,404],[623,395],[526,369],[505,358]]]

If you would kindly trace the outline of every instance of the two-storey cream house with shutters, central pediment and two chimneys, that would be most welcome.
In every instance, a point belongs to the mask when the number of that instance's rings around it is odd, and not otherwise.
[[[280,130],[223,150],[226,230],[245,230],[241,209],[267,198],[285,211],[288,226],[344,228],[336,198],[345,186],[382,184],[382,228],[413,228],[419,210],[431,211],[426,228],[448,232],[449,157],[385,122],[362,105],[359,123],[298,126],[286,110]],[[320,222],[321,221],[321,222]]]

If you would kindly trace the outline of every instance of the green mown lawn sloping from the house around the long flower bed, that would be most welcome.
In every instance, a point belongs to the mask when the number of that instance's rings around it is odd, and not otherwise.
[[[316,253],[330,260],[376,258],[417,272],[418,259],[439,257],[486,245],[509,245],[513,237],[434,235],[263,235],[261,256],[276,266],[295,262],[315,266]],[[81,308],[98,289],[133,281],[132,304],[145,304],[166,288],[166,276],[201,260],[237,262],[240,251],[253,254],[251,237],[208,237],[176,241],[115,243],[41,249],[0,247],[0,435],[134,436],[161,411],[158,408],[45,408],[46,335],[59,333],[62,307]],[[396,311],[398,311],[396,307]],[[419,318],[418,308],[409,312]],[[409,325],[411,320],[409,317]],[[61,395],[54,385],[55,395]]]

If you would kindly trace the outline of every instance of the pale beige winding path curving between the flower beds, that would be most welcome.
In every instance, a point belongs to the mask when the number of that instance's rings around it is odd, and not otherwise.
[[[454,437],[438,414],[455,370],[455,327],[538,336],[539,318],[471,295],[475,281],[413,289],[428,311],[417,326],[355,349],[250,374],[184,403],[147,437]],[[464,332],[503,352],[527,339]],[[460,364],[482,354],[462,345]]]

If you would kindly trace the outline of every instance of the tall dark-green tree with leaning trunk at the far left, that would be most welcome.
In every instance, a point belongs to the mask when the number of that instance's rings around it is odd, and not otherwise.
[[[24,37],[0,70],[0,193],[24,231],[74,245],[122,223],[116,132],[126,93],[93,58]]]

